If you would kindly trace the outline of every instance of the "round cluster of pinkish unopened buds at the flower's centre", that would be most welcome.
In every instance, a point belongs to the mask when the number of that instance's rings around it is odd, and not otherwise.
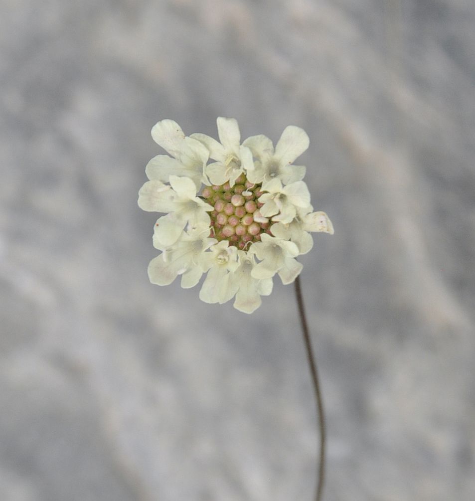
[[[201,193],[213,205],[210,235],[217,240],[228,240],[230,245],[246,249],[250,243],[261,239],[261,233],[270,232],[269,219],[259,209],[263,194],[261,184],[253,184],[241,174],[231,187],[229,182],[220,186],[205,186]]]

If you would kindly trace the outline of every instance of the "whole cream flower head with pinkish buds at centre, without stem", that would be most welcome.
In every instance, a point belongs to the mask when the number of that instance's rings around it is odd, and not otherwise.
[[[305,167],[293,165],[309,145],[307,133],[286,127],[275,149],[264,136],[241,143],[233,118],[218,117],[219,141],[205,134],[185,136],[173,120],[152,128],[169,155],[146,166],[140,188],[143,210],[162,212],[153,235],[161,251],[148,266],[150,282],[169,285],[181,275],[205,303],[226,303],[253,313],[269,296],[273,277],[292,283],[302,271],[296,260],[313,246],[311,232],[333,234],[327,214],[313,211],[302,180]],[[211,159],[211,161],[210,161]]]

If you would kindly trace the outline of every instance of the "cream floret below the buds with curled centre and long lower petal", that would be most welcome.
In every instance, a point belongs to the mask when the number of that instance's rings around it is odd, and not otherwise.
[[[239,288],[230,273],[239,266],[237,248],[222,240],[210,247],[210,251],[201,260],[204,271],[209,271],[199,291],[199,299],[205,303],[222,304],[229,301]]]

